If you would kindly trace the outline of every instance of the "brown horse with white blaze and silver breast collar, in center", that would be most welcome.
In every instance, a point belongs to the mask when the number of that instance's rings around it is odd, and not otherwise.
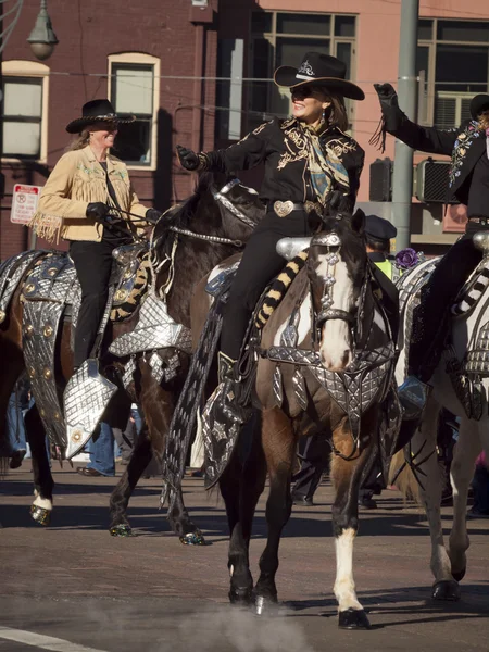
[[[394,350],[374,287],[363,215],[324,218],[321,233],[310,242],[305,267],[272,314],[256,348],[254,390],[260,409],[252,427],[242,430],[220,477],[220,489],[230,530],[229,599],[248,603],[254,598],[259,614],[277,601],[278,546],[291,513],[298,438],[331,431],[339,625],[369,627],[355,593],[353,540],[362,474],[368,472],[380,446]],[[192,301],[192,315],[202,305],[201,286]],[[268,537],[253,588],[249,543],[267,474]]]

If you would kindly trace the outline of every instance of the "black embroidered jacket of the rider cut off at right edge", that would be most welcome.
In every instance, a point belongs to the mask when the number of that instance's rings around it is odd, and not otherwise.
[[[412,147],[428,154],[452,158],[449,171],[449,191],[463,203],[468,203],[472,172],[486,152],[486,134],[477,121],[467,120],[454,129],[422,127],[411,122],[399,106],[384,106],[386,130]]]

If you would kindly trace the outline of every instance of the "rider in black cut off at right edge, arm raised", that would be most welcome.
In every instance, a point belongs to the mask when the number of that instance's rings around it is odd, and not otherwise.
[[[427,383],[441,358],[448,333],[450,309],[471,273],[482,259],[475,249],[473,236],[489,229],[489,95],[478,95],[471,102],[472,120],[456,129],[422,127],[411,122],[398,105],[398,96],[390,84],[374,85],[383,112],[383,131],[409,147],[431,154],[452,156],[449,173],[450,192],[467,205],[468,222],[465,235],[439,262],[423,288],[421,304],[413,316],[410,343],[409,374],[401,387],[400,398],[408,403],[411,415],[417,416],[423,400],[412,402],[411,389],[417,387],[426,399]]]

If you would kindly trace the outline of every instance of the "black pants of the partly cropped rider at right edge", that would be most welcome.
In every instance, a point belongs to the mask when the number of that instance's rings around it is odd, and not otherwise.
[[[450,309],[465,281],[482,260],[472,236],[484,227],[468,223],[467,231],[444,254],[422,291],[422,302],[414,310],[409,368],[424,383],[432,376],[448,335]]]

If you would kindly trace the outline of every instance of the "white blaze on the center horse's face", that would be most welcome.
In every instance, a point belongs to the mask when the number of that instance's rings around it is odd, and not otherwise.
[[[316,269],[317,276],[328,276],[328,265],[322,261]],[[331,309],[350,312],[353,308],[353,281],[348,274],[347,263],[339,261],[335,265]],[[324,366],[337,372],[347,367],[351,362],[350,326],[344,319],[329,319],[323,326],[319,354]]]

